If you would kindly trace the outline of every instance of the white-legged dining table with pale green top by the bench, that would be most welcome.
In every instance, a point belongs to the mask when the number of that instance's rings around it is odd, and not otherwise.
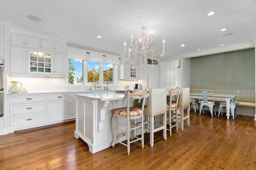
[[[235,94],[234,95],[230,95],[230,94],[214,94],[214,100],[224,100],[226,101],[226,116],[227,116],[227,119],[229,119],[230,117],[230,100],[232,98],[234,98]],[[198,99],[198,94],[197,93],[190,93],[190,98],[196,98]],[[199,98],[203,98],[203,94],[199,94]],[[212,99],[213,100],[213,97],[212,97],[212,94],[209,94],[208,95],[208,99]]]

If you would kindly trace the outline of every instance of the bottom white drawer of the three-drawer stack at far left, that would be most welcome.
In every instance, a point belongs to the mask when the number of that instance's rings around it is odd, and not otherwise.
[[[10,117],[10,127],[29,125],[32,123],[39,123],[46,121],[46,113],[36,113],[30,115],[22,116],[11,116]]]

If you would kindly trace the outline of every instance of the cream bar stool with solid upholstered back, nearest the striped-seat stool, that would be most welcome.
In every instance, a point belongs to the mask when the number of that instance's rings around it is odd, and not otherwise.
[[[149,117],[144,128],[146,132],[150,133],[150,146],[154,145],[154,133],[163,130],[163,137],[166,140],[166,92],[165,88],[150,89],[148,95],[148,104],[144,109],[144,115]],[[163,115],[163,123],[155,123],[154,116]],[[147,128],[146,128],[147,127]]]

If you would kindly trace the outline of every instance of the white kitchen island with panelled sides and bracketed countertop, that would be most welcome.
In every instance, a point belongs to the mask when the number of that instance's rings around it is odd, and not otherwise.
[[[126,105],[124,94],[113,92],[77,94],[74,136],[87,143],[92,153],[110,147],[113,141],[112,110]],[[132,102],[132,106],[135,105],[138,105],[138,100]],[[126,120],[117,120],[116,125],[126,128]],[[120,137],[121,141],[126,139],[126,136]]]

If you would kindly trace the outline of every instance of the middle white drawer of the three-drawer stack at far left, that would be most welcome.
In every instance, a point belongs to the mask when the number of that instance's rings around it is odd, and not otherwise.
[[[46,102],[31,104],[13,104],[10,105],[9,115],[18,115],[22,113],[32,113],[46,111]]]

